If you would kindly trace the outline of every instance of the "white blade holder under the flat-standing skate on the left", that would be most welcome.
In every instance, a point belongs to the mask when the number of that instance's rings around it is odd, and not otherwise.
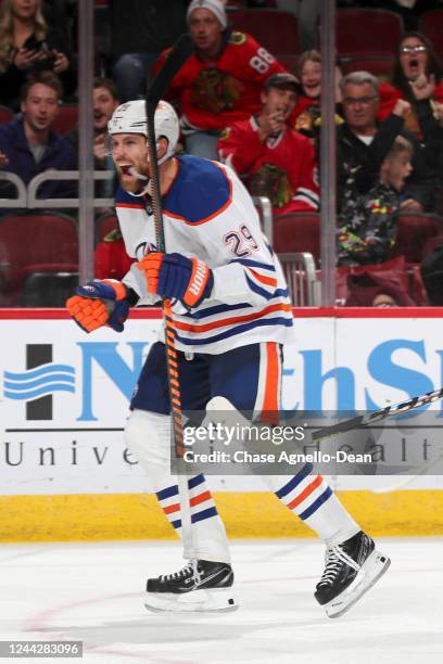
[[[231,588],[192,590],[183,595],[147,592],[144,606],[153,613],[225,613],[239,608]]]

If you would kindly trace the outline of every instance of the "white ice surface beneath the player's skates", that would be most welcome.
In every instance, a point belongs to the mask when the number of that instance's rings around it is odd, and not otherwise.
[[[379,548],[391,569],[332,621],[313,598],[324,553],[314,539],[233,542],[240,610],[192,616],[143,608],[147,576],[181,566],[176,545],[2,545],[0,639],[84,642],[83,660],[35,662],[442,664],[443,538]]]

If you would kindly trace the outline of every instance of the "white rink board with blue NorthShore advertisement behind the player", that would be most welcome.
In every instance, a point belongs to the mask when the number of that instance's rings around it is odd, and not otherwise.
[[[366,312],[369,317],[352,309],[340,310],[340,317],[295,312],[293,342],[284,354],[286,410],[376,410],[442,385],[438,310]],[[118,505],[139,499],[149,485],[123,430],[160,314],[137,311],[123,334],[109,329],[85,334],[64,311],[2,311],[0,324],[1,500],[29,506],[49,496],[75,505],[80,496],[109,501],[121,496]],[[441,410],[443,400],[434,408]],[[226,503],[230,494],[233,500],[243,493],[246,505],[248,494],[264,490],[256,477],[211,480]],[[332,483],[363,496],[389,488],[392,477],[333,477]],[[421,491],[434,500],[443,478],[409,477],[402,488],[410,498]],[[388,495],[371,494],[378,500]]]

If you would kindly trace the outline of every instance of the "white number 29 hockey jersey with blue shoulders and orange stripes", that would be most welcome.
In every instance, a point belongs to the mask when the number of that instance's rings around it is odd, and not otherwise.
[[[187,311],[174,306],[178,350],[219,354],[246,344],[290,340],[292,307],[279,261],[264,237],[252,200],[228,167],[190,155],[163,196],[167,253],[204,260],[214,273],[210,298]],[[155,246],[150,199],[118,190],[115,208],[129,256]],[[139,305],[155,304],[132,265],[123,279]]]

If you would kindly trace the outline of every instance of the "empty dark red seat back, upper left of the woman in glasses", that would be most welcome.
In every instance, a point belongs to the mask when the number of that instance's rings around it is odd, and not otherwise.
[[[339,9],[337,52],[339,58],[368,53],[393,55],[403,34],[402,17],[388,10]]]

